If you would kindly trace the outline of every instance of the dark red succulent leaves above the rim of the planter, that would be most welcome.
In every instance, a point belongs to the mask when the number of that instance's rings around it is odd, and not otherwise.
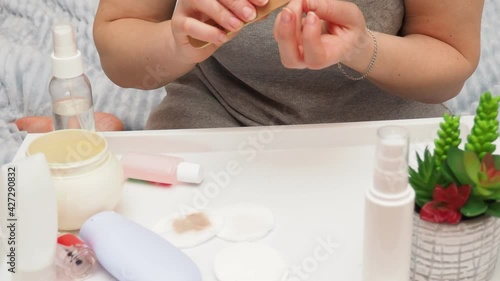
[[[426,203],[420,210],[420,218],[425,221],[457,224],[462,218],[462,208],[471,192],[470,185],[458,186],[455,183],[444,188],[436,185],[432,201]]]

